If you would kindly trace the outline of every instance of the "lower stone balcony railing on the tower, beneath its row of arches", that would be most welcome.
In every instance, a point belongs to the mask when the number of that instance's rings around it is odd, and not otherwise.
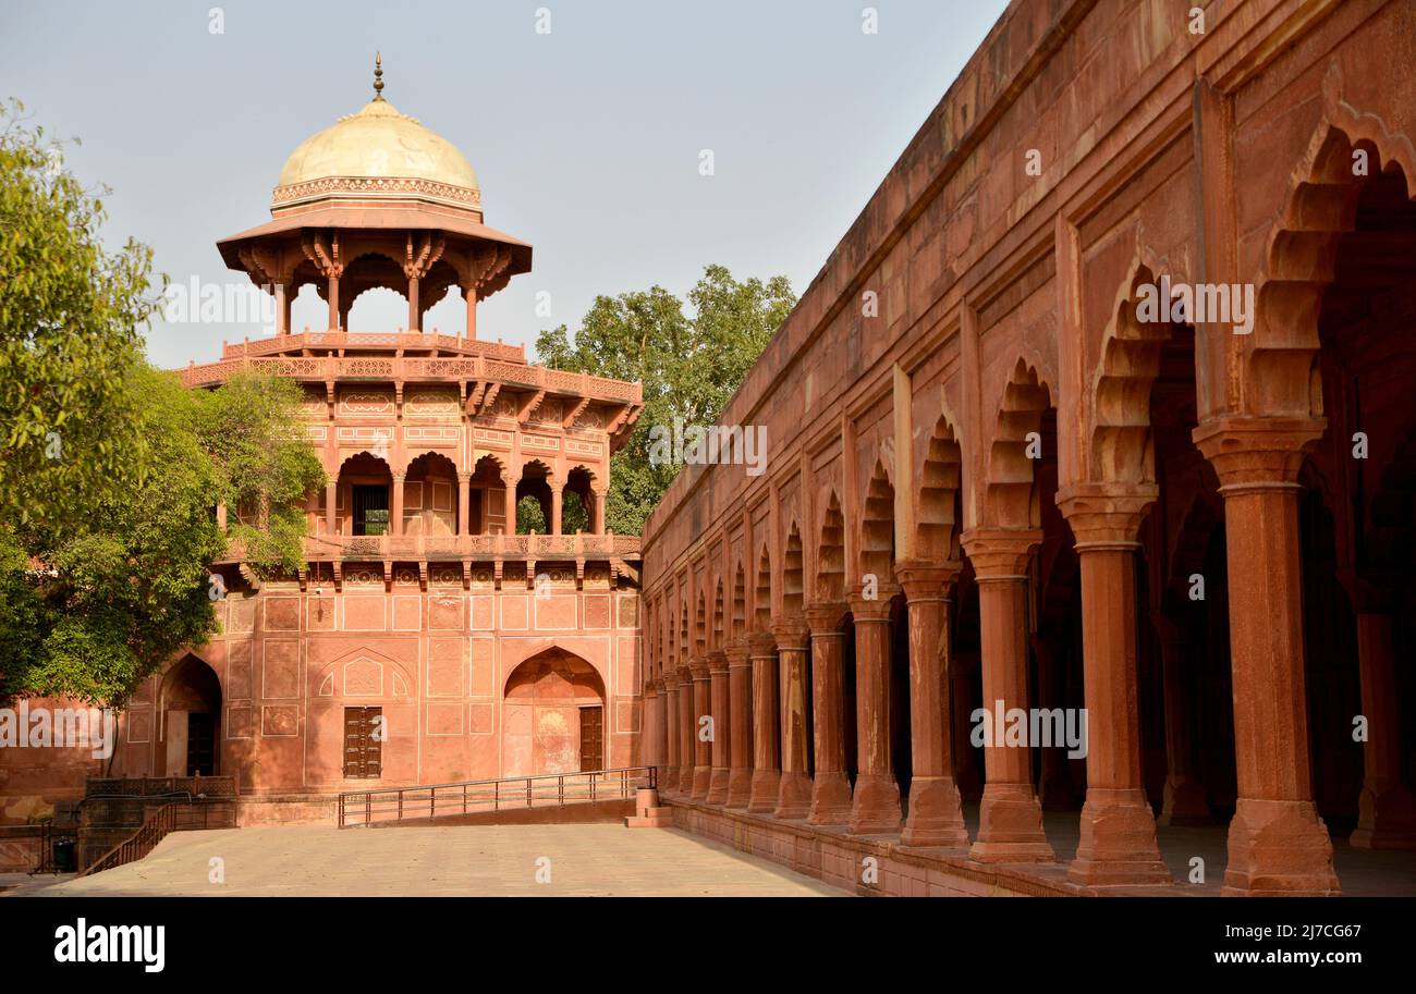
[[[309,562],[438,559],[639,559],[639,535],[309,535]],[[231,542],[221,562],[241,562],[242,549]]]

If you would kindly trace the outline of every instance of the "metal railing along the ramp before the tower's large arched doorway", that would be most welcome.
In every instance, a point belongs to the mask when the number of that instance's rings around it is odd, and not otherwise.
[[[657,786],[657,767],[624,766],[583,773],[542,773],[498,780],[351,790],[340,794],[340,828],[423,821],[455,814],[626,800],[641,787]]]

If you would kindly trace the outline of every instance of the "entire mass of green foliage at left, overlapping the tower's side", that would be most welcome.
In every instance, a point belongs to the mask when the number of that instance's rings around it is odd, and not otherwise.
[[[0,699],[120,707],[215,624],[215,507],[256,568],[299,562],[299,505],[323,481],[293,384],[211,392],[142,355],[150,251],[99,241],[102,205],[18,105],[0,133]],[[296,534],[299,522],[299,534]]]

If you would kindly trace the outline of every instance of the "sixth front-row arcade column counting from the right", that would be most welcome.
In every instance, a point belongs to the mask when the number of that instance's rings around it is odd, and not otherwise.
[[[811,626],[811,731],[816,746],[807,821],[813,826],[844,826],[851,817],[851,782],[845,776],[843,615],[845,605],[840,603],[817,603],[806,609]]]

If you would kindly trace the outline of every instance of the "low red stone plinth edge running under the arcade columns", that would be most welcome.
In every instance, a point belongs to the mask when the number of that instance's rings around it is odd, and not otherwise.
[[[1045,898],[1087,892],[1066,882],[1065,868],[1027,871],[986,867],[963,855],[908,850],[892,840],[848,835],[844,827],[777,821],[681,799],[667,799],[666,803],[674,809],[675,828],[862,896]],[[871,872],[867,872],[868,857],[875,859]]]

